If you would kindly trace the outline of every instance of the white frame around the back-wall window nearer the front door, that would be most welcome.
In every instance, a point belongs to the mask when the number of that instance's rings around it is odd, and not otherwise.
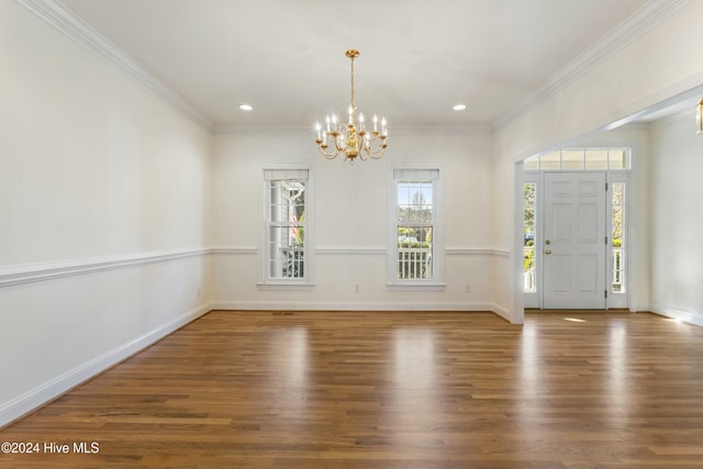
[[[398,246],[398,182],[417,182],[402,172],[414,171],[435,172],[431,178],[433,197],[432,220],[432,277],[426,279],[398,278],[399,246]],[[398,176],[397,176],[398,175]],[[424,180],[423,180],[424,181]],[[393,165],[389,171],[388,183],[388,289],[408,290],[444,290],[444,169],[439,164],[399,164]]]

